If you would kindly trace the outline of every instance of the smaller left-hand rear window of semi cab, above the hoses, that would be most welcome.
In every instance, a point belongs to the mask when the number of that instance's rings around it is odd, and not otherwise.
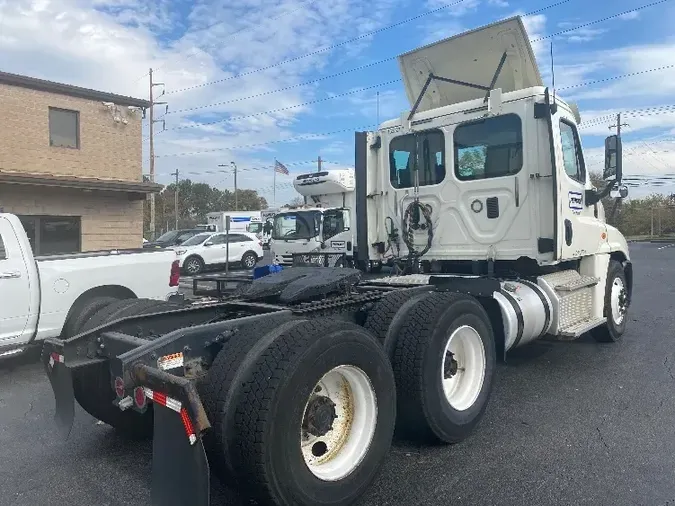
[[[419,185],[439,184],[445,179],[445,136],[428,130],[394,137],[389,143],[389,180],[394,188],[412,188],[415,168]]]

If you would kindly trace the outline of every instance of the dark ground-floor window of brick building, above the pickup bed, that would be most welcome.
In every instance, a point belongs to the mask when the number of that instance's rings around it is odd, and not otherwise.
[[[19,216],[33,254],[77,253],[81,248],[79,216]]]

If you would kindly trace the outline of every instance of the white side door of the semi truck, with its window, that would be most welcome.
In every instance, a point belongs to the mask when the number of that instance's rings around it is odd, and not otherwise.
[[[558,108],[559,111],[562,108]],[[606,232],[595,216],[595,207],[586,205],[588,173],[575,121],[564,112],[553,117],[558,166],[558,247],[560,259],[569,260],[598,251]]]

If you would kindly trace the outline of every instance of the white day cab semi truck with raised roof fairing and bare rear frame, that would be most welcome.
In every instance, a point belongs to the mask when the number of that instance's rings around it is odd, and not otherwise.
[[[632,265],[600,201],[621,182],[620,138],[598,192],[579,114],[543,86],[522,20],[399,64],[412,109],[356,133],[353,221],[357,262],[391,256],[409,274],[285,269],[215,304],[95,314],[46,341],[64,434],[77,400],[153,435],[153,505],[208,505],[211,465],[258,504],[352,504],[395,427],[469,437],[510,349],[624,334]]]

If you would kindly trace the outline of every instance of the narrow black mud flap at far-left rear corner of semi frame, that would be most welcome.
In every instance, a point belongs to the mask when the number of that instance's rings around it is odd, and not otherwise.
[[[45,346],[42,353],[42,363],[47,372],[49,382],[54,391],[56,410],[54,420],[59,433],[64,439],[70,435],[75,419],[75,393],[73,392],[73,374],[65,365],[63,355],[58,351],[51,351]]]

